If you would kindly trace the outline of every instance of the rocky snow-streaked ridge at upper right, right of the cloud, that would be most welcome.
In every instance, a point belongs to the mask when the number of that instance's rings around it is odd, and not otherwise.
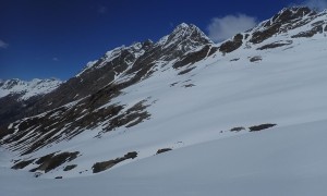
[[[291,39],[293,38],[307,38],[326,32],[326,11],[317,13],[306,7],[282,9],[271,19],[262,22],[256,27],[249,29],[245,33],[237,34],[232,39],[221,44],[219,46],[219,51],[222,53],[230,53],[241,47],[256,47],[278,35],[283,35],[284,39],[269,42],[257,49],[265,50],[291,45],[293,42]]]

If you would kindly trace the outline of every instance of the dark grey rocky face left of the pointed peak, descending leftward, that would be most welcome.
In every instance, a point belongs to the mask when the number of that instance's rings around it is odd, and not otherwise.
[[[46,95],[38,102],[38,108],[47,111],[97,93],[121,76],[150,46],[152,42],[145,41],[108,51],[99,60],[89,63],[75,77],[62,84],[56,91]]]

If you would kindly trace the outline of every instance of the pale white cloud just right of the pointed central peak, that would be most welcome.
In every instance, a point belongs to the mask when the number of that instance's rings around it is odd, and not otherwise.
[[[227,15],[214,17],[207,29],[214,41],[221,41],[234,36],[238,33],[247,30],[257,24],[256,19],[245,15]]]

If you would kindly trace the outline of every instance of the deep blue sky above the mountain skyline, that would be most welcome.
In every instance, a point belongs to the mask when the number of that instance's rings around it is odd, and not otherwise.
[[[219,41],[303,3],[326,0],[0,0],[0,78],[68,79],[106,51],[157,41],[182,22]]]

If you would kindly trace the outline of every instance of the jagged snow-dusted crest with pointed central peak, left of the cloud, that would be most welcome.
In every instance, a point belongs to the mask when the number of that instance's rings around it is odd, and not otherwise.
[[[83,71],[76,75],[76,77],[81,77],[82,74],[94,69],[100,69],[119,57],[125,57],[125,62],[129,65],[132,65],[136,59],[143,54],[146,54],[146,51],[157,53],[159,50],[162,50],[161,54],[166,54],[165,59],[171,60],[172,58],[169,58],[169,53],[171,53],[171,51],[179,51],[178,54],[181,56],[184,52],[192,51],[198,47],[211,44],[214,42],[197,26],[182,23],[178,25],[171,34],[164,36],[157,42],[147,39],[142,42],[134,42],[128,47],[123,45],[107,51],[106,54],[99,60],[87,63]]]

